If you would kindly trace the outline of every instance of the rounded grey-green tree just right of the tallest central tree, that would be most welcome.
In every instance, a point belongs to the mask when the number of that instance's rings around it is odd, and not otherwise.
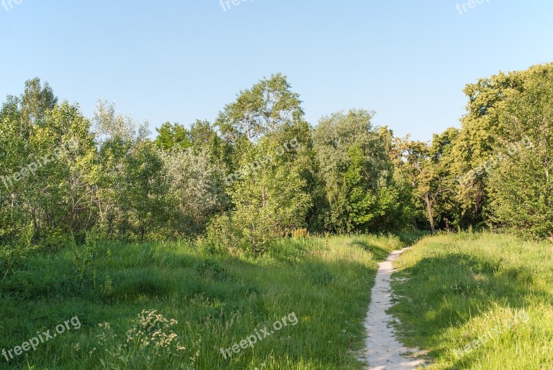
[[[401,207],[387,146],[391,133],[373,127],[372,118],[363,110],[338,112],[315,127],[317,176],[328,202],[319,218],[326,230],[383,230],[390,226],[383,220]]]

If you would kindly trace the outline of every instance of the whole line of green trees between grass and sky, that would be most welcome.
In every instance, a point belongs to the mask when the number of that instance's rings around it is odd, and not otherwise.
[[[259,253],[312,233],[494,228],[553,233],[553,64],[465,88],[461,127],[394,136],[374,112],[306,121],[281,74],[240,91],[214,122],[166,122],[151,138],[101,101],[91,118],[48,83],[0,110],[0,243],[95,230],[143,241],[203,236]]]

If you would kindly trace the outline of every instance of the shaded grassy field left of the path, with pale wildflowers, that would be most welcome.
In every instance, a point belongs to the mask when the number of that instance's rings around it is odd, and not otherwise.
[[[0,369],[361,369],[376,261],[401,247],[354,236],[286,239],[255,259],[185,242],[37,250],[0,288],[0,350],[39,344]]]

